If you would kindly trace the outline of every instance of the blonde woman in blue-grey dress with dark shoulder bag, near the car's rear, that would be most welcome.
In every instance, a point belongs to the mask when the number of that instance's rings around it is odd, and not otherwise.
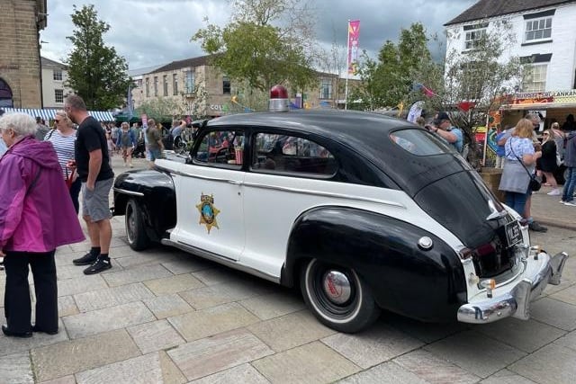
[[[505,165],[499,187],[500,191],[506,192],[506,205],[523,217],[528,195],[539,189],[534,173],[536,159],[542,157],[542,151],[534,149],[533,130],[532,121],[520,119],[512,137],[506,141]]]

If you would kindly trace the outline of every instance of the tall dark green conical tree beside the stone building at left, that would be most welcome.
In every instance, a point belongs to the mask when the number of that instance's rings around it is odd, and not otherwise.
[[[103,42],[110,25],[98,20],[94,5],[76,8],[72,22],[75,30],[67,36],[73,44],[67,56],[67,86],[80,95],[89,110],[109,110],[124,103],[130,77],[126,60]]]

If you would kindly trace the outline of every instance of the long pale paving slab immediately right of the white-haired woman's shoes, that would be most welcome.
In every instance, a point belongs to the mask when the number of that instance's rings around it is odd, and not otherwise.
[[[156,320],[152,312],[142,302],[133,302],[111,308],[64,317],[71,339],[95,335],[125,326],[135,326]]]

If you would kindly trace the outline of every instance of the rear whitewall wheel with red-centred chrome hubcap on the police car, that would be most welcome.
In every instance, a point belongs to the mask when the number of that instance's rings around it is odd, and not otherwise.
[[[354,270],[313,259],[302,268],[300,285],[314,316],[337,331],[361,331],[380,315],[370,289]]]

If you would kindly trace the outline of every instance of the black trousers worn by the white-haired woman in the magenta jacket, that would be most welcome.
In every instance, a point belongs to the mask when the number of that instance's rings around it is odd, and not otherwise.
[[[44,253],[6,251],[4,269],[4,316],[8,328],[23,333],[31,330],[31,299],[28,266],[36,292],[36,326],[42,330],[58,329],[58,285],[56,282],[56,250]]]

